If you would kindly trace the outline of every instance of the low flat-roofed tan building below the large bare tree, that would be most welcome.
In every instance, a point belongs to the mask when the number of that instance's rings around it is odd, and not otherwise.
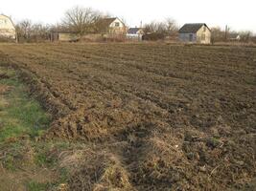
[[[51,41],[76,42],[80,39],[76,32],[51,32]]]

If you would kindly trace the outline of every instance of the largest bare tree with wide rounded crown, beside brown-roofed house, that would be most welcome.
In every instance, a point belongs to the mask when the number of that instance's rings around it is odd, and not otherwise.
[[[69,31],[78,32],[82,36],[85,33],[93,32],[95,23],[101,17],[99,11],[77,6],[65,12],[62,24]]]

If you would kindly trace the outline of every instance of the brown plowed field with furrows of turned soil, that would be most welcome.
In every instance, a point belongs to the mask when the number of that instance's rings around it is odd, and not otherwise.
[[[70,190],[253,189],[256,48],[0,45],[55,117],[43,139],[90,144]]]

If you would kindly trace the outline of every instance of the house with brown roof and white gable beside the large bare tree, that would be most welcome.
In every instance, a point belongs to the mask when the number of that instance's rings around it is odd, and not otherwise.
[[[126,34],[125,23],[117,17],[103,18],[96,23],[96,32],[102,34]]]

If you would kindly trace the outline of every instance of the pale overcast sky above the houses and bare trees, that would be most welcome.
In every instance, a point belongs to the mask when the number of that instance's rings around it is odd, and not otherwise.
[[[206,23],[256,33],[256,0],[0,0],[0,13],[11,15],[14,22],[28,18],[55,24],[77,5],[124,18],[130,27],[172,17],[179,26]]]

